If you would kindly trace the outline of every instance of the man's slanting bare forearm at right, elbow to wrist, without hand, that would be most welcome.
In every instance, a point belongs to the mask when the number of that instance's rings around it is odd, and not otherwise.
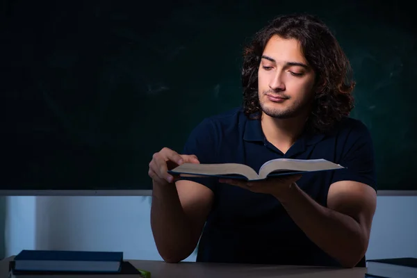
[[[356,220],[321,206],[295,184],[276,197],[306,236],[341,265],[354,267],[363,257],[367,243]]]

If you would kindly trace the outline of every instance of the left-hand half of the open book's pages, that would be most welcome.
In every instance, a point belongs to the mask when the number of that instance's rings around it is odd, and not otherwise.
[[[258,179],[258,174],[251,167],[238,163],[219,163],[219,164],[195,164],[183,163],[172,169],[177,174],[205,174],[205,175],[224,175],[241,174],[247,179]]]

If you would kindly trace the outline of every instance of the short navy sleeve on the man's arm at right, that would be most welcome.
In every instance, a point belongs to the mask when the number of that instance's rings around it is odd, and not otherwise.
[[[339,164],[346,169],[334,171],[332,183],[357,181],[377,190],[373,140],[366,126],[359,121],[345,140]]]

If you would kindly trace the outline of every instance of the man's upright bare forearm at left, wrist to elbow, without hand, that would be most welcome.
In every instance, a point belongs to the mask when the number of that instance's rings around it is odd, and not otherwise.
[[[159,254],[167,262],[186,259],[194,250],[192,229],[175,186],[152,190],[151,227]]]

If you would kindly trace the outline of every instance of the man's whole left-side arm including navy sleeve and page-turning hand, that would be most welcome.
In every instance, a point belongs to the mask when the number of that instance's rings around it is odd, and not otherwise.
[[[215,161],[215,129],[210,120],[204,120],[190,133],[181,154],[193,163],[213,163]],[[167,170],[179,165],[179,154],[164,148],[163,157],[154,157],[150,176],[154,180],[152,191],[151,227],[156,248],[164,261],[177,263],[186,259],[195,250],[202,229],[213,204],[215,183],[208,179],[180,180],[175,184],[168,177]],[[170,155],[166,155],[169,153]],[[167,157],[175,156],[168,161]],[[192,158],[195,159],[192,159]],[[170,167],[167,167],[170,164]],[[156,174],[155,174],[156,173]],[[169,179],[167,184],[163,179]],[[156,182],[157,180],[161,182]]]

